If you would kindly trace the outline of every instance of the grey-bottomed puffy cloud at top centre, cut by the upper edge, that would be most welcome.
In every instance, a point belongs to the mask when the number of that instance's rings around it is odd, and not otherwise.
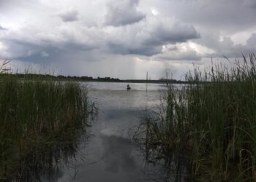
[[[138,0],[115,1],[108,4],[104,24],[121,26],[137,23],[143,20],[146,15],[138,11]]]

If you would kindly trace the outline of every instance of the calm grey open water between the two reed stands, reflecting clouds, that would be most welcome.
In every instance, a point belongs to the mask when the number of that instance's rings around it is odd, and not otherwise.
[[[132,135],[146,110],[157,109],[165,84],[88,82],[89,98],[99,113],[75,160],[55,181],[162,181],[161,167],[148,164]]]

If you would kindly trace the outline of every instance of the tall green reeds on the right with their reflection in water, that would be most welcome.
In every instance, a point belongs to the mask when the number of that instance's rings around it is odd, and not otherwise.
[[[186,78],[134,135],[146,159],[164,161],[175,181],[256,181],[255,55]]]

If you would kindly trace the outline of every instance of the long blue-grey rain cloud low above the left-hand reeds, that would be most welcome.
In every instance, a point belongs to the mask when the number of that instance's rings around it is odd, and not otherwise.
[[[81,54],[81,52],[89,52],[95,48],[89,44],[82,44],[71,39],[67,42],[58,42],[49,39],[33,42],[23,39],[8,38],[3,39],[2,42],[7,45],[7,47],[11,47],[12,58],[30,63],[59,62],[63,60],[65,56],[66,58],[69,57],[67,55],[84,56],[86,54]]]

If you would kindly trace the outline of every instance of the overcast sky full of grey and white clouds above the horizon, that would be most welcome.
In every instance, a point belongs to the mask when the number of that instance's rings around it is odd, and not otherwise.
[[[256,53],[255,0],[0,0],[12,71],[184,79]]]

